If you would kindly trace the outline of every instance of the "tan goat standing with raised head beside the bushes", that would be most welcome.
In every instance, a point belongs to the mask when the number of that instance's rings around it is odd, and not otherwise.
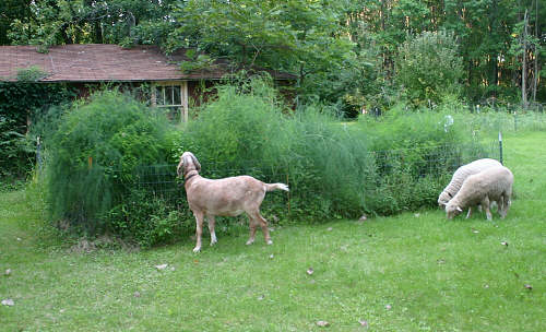
[[[246,212],[250,221],[250,238],[247,245],[254,241],[256,229],[260,224],[265,242],[272,245],[268,229],[268,221],[260,214],[260,205],[265,192],[273,190],[288,191],[284,183],[264,183],[250,176],[237,176],[224,179],[211,180],[199,175],[201,164],[191,152],[185,152],[180,156],[177,167],[178,176],[183,176],[186,195],[190,210],[195,216],[197,244],[193,252],[201,250],[201,234],[203,233],[203,218],[206,215],[209,232],[211,233],[211,246],[217,239],[214,233],[215,215],[236,216]]]

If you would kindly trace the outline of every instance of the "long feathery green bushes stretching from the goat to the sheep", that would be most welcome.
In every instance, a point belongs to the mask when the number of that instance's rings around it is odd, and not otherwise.
[[[252,84],[258,84],[256,81]],[[463,162],[486,155],[449,114],[393,110],[341,123],[309,106],[284,115],[263,84],[224,86],[182,135],[203,176],[288,181],[290,217],[355,217],[431,205]],[[271,88],[269,88],[271,90]]]

